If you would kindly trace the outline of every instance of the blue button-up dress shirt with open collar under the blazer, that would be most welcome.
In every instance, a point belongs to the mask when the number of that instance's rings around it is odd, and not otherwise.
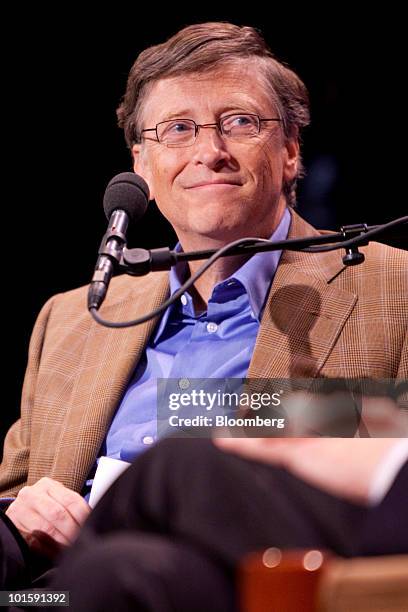
[[[286,209],[271,240],[285,240]],[[132,461],[157,438],[158,378],[245,378],[266,297],[281,251],[253,255],[215,285],[207,311],[196,313],[189,293],[163,314],[135,368],[99,456]],[[185,262],[170,271],[170,292],[180,288]],[[96,464],[83,493],[88,498]]]

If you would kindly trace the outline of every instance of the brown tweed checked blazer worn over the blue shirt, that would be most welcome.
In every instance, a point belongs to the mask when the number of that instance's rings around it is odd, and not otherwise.
[[[318,234],[292,211],[289,237]],[[408,253],[378,243],[343,266],[344,251],[285,251],[248,376],[408,379]],[[101,314],[128,320],[168,295],[167,272],[112,281]],[[0,495],[42,476],[80,491],[155,322],[107,329],[86,309],[87,287],[52,297],[31,338],[21,419],[8,432]],[[157,322],[157,321],[156,321]],[[186,364],[188,373],[188,364]]]

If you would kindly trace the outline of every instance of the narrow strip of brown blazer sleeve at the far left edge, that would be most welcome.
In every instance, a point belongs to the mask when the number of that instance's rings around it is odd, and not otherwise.
[[[49,316],[57,296],[50,298],[41,309],[34,325],[28,351],[21,415],[9,429],[0,464],[0,497],[15,497],[26,484],[30,457],[31,417],[35,401],[37,374]]]

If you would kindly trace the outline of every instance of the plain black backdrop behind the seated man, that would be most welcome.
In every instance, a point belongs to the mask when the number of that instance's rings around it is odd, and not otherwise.
[[[315,14],[295,7],[155,6],[143,16],[134,6],[112,4],[92,15],[73,14],[64,4],[44,14],[38,6],[17,7],[3,15],[2,430],[18,414],[38,311],[52,294],[89,281],[106,227],[106,183],[131,169],[115,116],[128,71],[143,48],[182,26],[227,20],[258,27],[306,83],[312,125],[304,134],[303,216],[337,229],[407,214],[402,18],[383,8],[357,18],[343,4]],[[132,245],[172,242],[154,207],[131,235]]]

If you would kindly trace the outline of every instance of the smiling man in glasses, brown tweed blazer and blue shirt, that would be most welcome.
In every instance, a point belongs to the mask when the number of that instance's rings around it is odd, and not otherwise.
[[[118,116],[134,169],[184,250],[318,235],[291,208],[307,92],[253,29],[190,26],[147,49]],[[133,459],[154,441],[157,377],[406,379],[407,255],[362,251],[356,268],[339,252],[220,259],[157,327],[100,327],[86,288],[51,298],[0,472],[7,517],[31,549],[46,556],[50,538],[57,548],[73,541],[98,455]],[[171,292],[187,273],[172,272]],[[168,293],[167,274],[120,277],[101,314],[134,318]]]

